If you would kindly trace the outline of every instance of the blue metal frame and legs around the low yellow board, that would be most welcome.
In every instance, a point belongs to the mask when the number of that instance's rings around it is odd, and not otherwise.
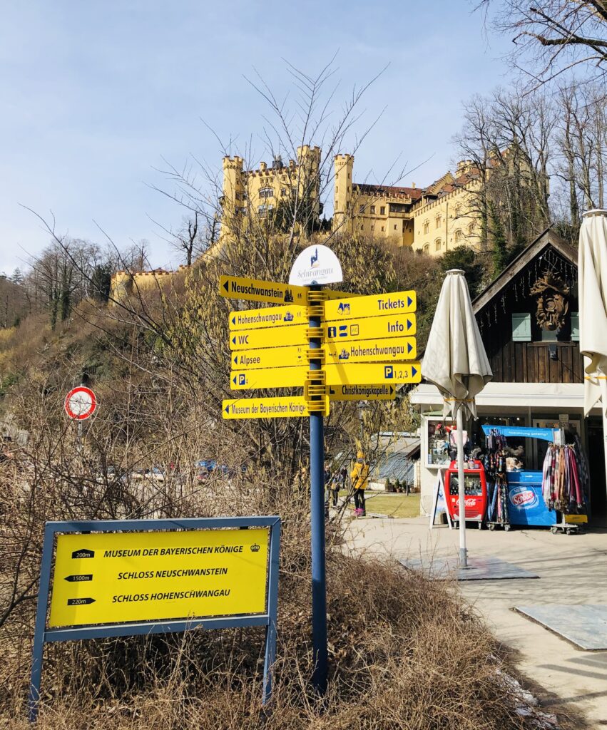
[[[145,621],[142,623],[108,623],[101,626],[72,626],[59,629],[47,628],[47,612],[50,594],[50,574],[53,563],[54,538],[57,533],[127,532],[127,531],[177,531],[202,529],[268,528],[268,570],[266,608],[264,613],[210,618],[191,618],[169,621]],[[263,704],[272,693],[272,664],[276,656],[276,618],[278,610],[278,556],[280,550],[280,518],[187,518],[182,520],[98,520],[91,522],[47,522],[42,548],[42,568],[34,630],[34,648],[31,662],[31,682],[28,699],[29,720],[36,721],[42,679],[42,658],[45,642],[102,637],[135,636],[142,634],[166,634],[188,629],[226,629],[240,626],[265,626],[266,650],[264,660]]]

